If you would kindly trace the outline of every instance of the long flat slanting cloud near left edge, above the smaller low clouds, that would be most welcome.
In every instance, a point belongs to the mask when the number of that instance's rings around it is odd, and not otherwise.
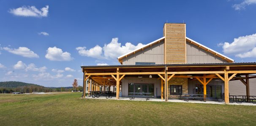
[[[27,47],[19,47],[18,49],[3,47],[3,50],[8,51],[9,53],[13,53],[13,54],[16,54],[16,55],[21,55],[21,56],[27,57],[27,58],[39,58],[39,56],[36,53],[31,51]]]

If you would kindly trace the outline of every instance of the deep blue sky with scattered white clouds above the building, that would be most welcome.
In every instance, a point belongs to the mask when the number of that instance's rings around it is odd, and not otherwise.
[[[163,37],[166,21],[184,21],[187,37],[236,62],[256,61],[256,0],[0,0],[0,81],[82,85],[82,64],[118,65]]]

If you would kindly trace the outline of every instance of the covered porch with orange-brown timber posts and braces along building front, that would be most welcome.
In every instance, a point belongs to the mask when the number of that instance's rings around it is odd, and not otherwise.
[[[204,99],[207,97],[207,84],[214,79],[220,79],[224,83],[223,99],[226,104],[229,104],[229,81],[240,80],[241,84],[246,86],[246,96],[250,96],[249,79],[256,78],[256,76],[249,76],[256,74],[256,63],[81,66],[81,68],[84,72],[84,84],[87,79],[90,80],[88,92],[106,91],[106,87],[112,87],[116,99],[129,93],[128,84],[134,83],[131,81],[134,78],[143,78],[144,81],[141,84],[151,84],[151,81],[155,81],[154,97],[158,97],[155,95],[156,92],[164,101],[169,100],[171,91],[168,83],[174,78],[198,81],[202,84]],[[83,92],[83,97],[85,97],[85,92]]]

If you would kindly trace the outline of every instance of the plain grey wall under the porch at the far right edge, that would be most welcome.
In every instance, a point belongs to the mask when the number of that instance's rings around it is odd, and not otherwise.
[[[256,78],[249,79],[250,95],[256,96]],[[246,87],[240,80],[229,81],[229,95],[246,95]]]

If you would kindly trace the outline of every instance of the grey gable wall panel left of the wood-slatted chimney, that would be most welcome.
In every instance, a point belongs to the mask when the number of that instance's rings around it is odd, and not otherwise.
[[[135,62],[153,62],[155,64],[164,64],[164,41],[160,41],[147,47],[144,50],[123,58],[123,65],[135,65]]]

